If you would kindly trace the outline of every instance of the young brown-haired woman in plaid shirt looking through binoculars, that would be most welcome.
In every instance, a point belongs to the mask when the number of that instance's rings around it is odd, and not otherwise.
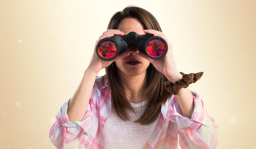
[[[99,40],[136,32],[165,39],[153,60],[131,45],[112,61],[93,56],[75,94],[61,106],[49,138],[58,149],[213,149],[217,124],[189,84],[202,73],[177,70],[172,46],[155,17],[129,6],[111,18]],[[98,43],[98,41],[96,44]],[[97,76],[105,68],[104,76]]]

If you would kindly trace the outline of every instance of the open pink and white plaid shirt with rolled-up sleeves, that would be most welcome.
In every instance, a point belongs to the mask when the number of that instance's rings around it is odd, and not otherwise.
[[[49,138],[58,149],[104,149],[104,125],[111,112],[111,91],[97,76],[86,114],[81,121],[69,121],[67,100],[56,115]],[[194,95],[192,118],[183,117],[175,95],[163,104],[161,115],[145,149],[215,149],[215,120],[207,114],[200,96]]]

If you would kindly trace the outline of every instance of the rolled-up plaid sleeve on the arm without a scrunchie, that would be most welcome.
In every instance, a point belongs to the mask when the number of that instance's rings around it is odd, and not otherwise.
[[[93,116],[91,104],[88,104],[87,111],[81,121],[70,121],[67,115],[70,99],[61,106],[49,132],[49,138],[57,149],[67,146],[72,148],[81,145],[81,140],[90,135],[92,128]]]

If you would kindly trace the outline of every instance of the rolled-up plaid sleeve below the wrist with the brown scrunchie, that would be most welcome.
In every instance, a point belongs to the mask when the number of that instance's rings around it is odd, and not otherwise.
[[[208,115],[201,97],[194,91],[194,111],[191,119],[182,116],[177,97],[174,96],[169,104],[168,117],[177,123],[179,132],[179,143],[183,149],[215,149],[217,146],[215,120]]]

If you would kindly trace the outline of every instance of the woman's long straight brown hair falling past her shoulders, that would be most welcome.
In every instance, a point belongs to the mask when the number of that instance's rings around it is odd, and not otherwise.
[[[119,23],[125,18],[137,19],[143,25],[144,29],[154,29],[162,32],[157,19],[150,12],[136,6],[128,6],[122,11],[116,12],[108,24],[108,29],[117,29]],[[110,65],[105,68],[105,77],[111,89],[113,108],[122,120],[129,120],[128,110],[134,112],[134,109],[127,99],[125,88],[117,74],[116,63],[113,62],[112,64],[113,66]],[[103,80],[105,80],[104,77]],[[146,97],[148,103],[143,115],[135,122],[148,125],[156,120],[161,112],[162,104],[171,96],[169,92],[165,91],[163,86],[163,82],[166,80],[167,78],[150,63],[143,84],[145,86],[145,92],[142,95],[142,97]]]

